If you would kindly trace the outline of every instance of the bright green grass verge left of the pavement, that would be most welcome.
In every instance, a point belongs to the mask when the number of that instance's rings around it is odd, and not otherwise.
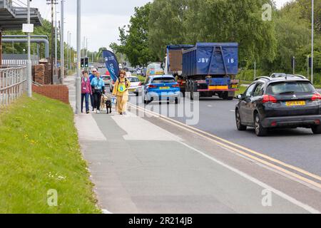
[[[0,114],[0,213],[100,213],[69,105],[34,94]],[[47,192],[58,192],[49,207]]]

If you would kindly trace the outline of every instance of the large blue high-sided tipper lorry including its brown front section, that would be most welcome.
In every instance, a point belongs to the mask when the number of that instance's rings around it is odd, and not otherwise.
[[[165,73],[177,77],[191,100],[196,94],[233,100],[238,90],[238,43],[167,46],[165,61]]]

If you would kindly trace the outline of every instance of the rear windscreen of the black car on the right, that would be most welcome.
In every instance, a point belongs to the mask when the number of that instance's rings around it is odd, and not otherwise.
[[[272,83],[267,87],[267,94],[287,95],[300,93],[315,93],[315,88],[307,81],[292,81]]]

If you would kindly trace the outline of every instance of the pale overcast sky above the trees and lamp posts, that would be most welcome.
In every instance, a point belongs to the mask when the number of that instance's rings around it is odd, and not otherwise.
[[[14,0],[16,3],[26,0]],[[57,10],[60,12],[60,2]],[[83,0],[82,2],[82,31],[81,36],[88,38],[88,49],[97,51],[98,48],[112,42],[118,42],[118,27],[127,25],[133,15],[135,6],[143,6],[151,0]],[[280,8],[290,0],[275,0]],[[31,7],[38,8],[44,19],[51,20],[51,6],[46,0],[32,0]],[[60,14],[58,14],[60,20]],[[65,40],[67,32],[71,31],[71,44],[76,46],[76,0],[65,1]],[[83,39],[82,39],[83,40]],[[82,42],[82,41],[81,41]]]

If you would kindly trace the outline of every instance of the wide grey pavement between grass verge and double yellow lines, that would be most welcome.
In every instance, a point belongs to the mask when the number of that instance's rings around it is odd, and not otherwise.
[[[65,83],[74,107],[74,77]],[[75,115],[103,212],[320,213],[321,188],[131,111]]]

